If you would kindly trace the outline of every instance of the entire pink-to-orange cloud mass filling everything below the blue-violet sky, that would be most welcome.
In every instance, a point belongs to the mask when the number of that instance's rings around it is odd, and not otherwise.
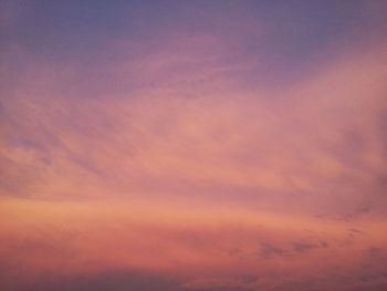
[[[93,82],[130,84],[97,96],[71,66],[31,65],[2,100],[1,280],[386,283],[384,48],[281,91],[241,85],[250,64],[212,38],[123,53]]]

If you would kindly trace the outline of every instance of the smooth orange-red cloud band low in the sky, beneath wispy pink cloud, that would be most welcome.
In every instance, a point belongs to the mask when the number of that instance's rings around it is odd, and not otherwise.
[[[122,199],[2,199],[1,204],[1,281],[11,285],[19,278],[21,289],[32,282],[50,287],[44,279],[48,273],[61,283],[130,270],[160,273],[178,282],[177,287],[194,289],[215,288],[213,278],[226,290],[269,288],[278,276],[278,263],[283,273],[279,285],[289,278],[324,273],[332,264],[338,266],[338,272],[349,272],[352,266],[366,261],[359,249],[386,239],[378,224],[367,222],[366,239],[347,245],[348,222],[237,207]],[[315,233],[311,240],[305,228],[325,235]],[[232,249],[239,251],[230,256]]]

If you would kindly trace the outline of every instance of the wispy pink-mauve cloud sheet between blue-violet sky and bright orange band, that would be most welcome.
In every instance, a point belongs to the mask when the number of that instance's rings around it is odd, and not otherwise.
[[[114,189],[248,199],[273,210],[295,199],[295,211],[348,218],[364,207],[383,211],[383,53],[343,58],[270,92],[239,86],[249,70],[217,64],[230,53],[217,40],[187,42],[139,61],[123,54],[93,83],[130,86],[98,97],[69,91],[82,71],[34,64],[2,101],[3,159],[13,173],[6,175],[27,187],[14,189],[8,177],[8,193],[101,197]]]

